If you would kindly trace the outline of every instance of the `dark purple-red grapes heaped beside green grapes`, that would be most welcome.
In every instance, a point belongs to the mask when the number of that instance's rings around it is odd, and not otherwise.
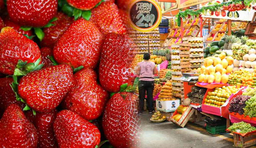
[[[230,101],[229,112],[237,112],[239,114],[244,114],[244,107],[246,106],[246,101],[250,99],[250,96],[238,95]]]

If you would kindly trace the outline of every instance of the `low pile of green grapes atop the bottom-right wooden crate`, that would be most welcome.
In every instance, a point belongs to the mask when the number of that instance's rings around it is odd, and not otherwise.
[[[247,133],[247,132],[252,132],[254,130],[256,130],[256,128],[254,126],[251,126],[250,123],[246,123],[246,122],[238,122],[238,123],[234,123],[232,126],[230,126],[228,128],[228,130],[230,130],[230,132],[238,132],[238,133]]]

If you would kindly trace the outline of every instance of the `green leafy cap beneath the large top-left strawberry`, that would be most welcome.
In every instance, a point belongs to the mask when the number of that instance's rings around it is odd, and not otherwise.
[[[55,24],[52,24],[52,22],[54,22],[54,21],[56,21],[56,20],[58,20],[58,18],[56,18],[56,17],[52,18],[52,19],[48,22],[48,24],[46,24],[46,25],[45,25],[44,27],[42,27],[42,28],[49,28],[49,27],[51,27],[51,26],[55,26]],[[31,30],[32,28],[34,29],[34,33],[36,34],[36,36],[38,37],[38,39],[39,39],[40,41],[42,41],[42,40],[44,39],[44,32],[43,32],[42,28],[38,28],[38,27],[29,27],[29,26],[20,27],[20,29],[21,29],[21,30],[24,30],[24,31]],[[28,35],[24,35],[24,36],[28,37],[29,39],[32,39],[32,38],[33,38],[32,36],[29,37]]]

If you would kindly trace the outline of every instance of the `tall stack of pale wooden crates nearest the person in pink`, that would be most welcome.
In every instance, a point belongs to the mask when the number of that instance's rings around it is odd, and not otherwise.
[[[183,72],[190,71],[189,49],[182,44],[171,46],[172,57],[172,96],[184,101],[184,85],[180,78]]]

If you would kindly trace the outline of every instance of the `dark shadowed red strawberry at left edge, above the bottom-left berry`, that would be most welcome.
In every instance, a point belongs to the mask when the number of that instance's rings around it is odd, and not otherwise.
[[[6,108],[13,103],[24,107],[22,102],[16,100],[15,94],[10,86],[12,81],[12,77],[0,78],[0,116],[6,110]]]

